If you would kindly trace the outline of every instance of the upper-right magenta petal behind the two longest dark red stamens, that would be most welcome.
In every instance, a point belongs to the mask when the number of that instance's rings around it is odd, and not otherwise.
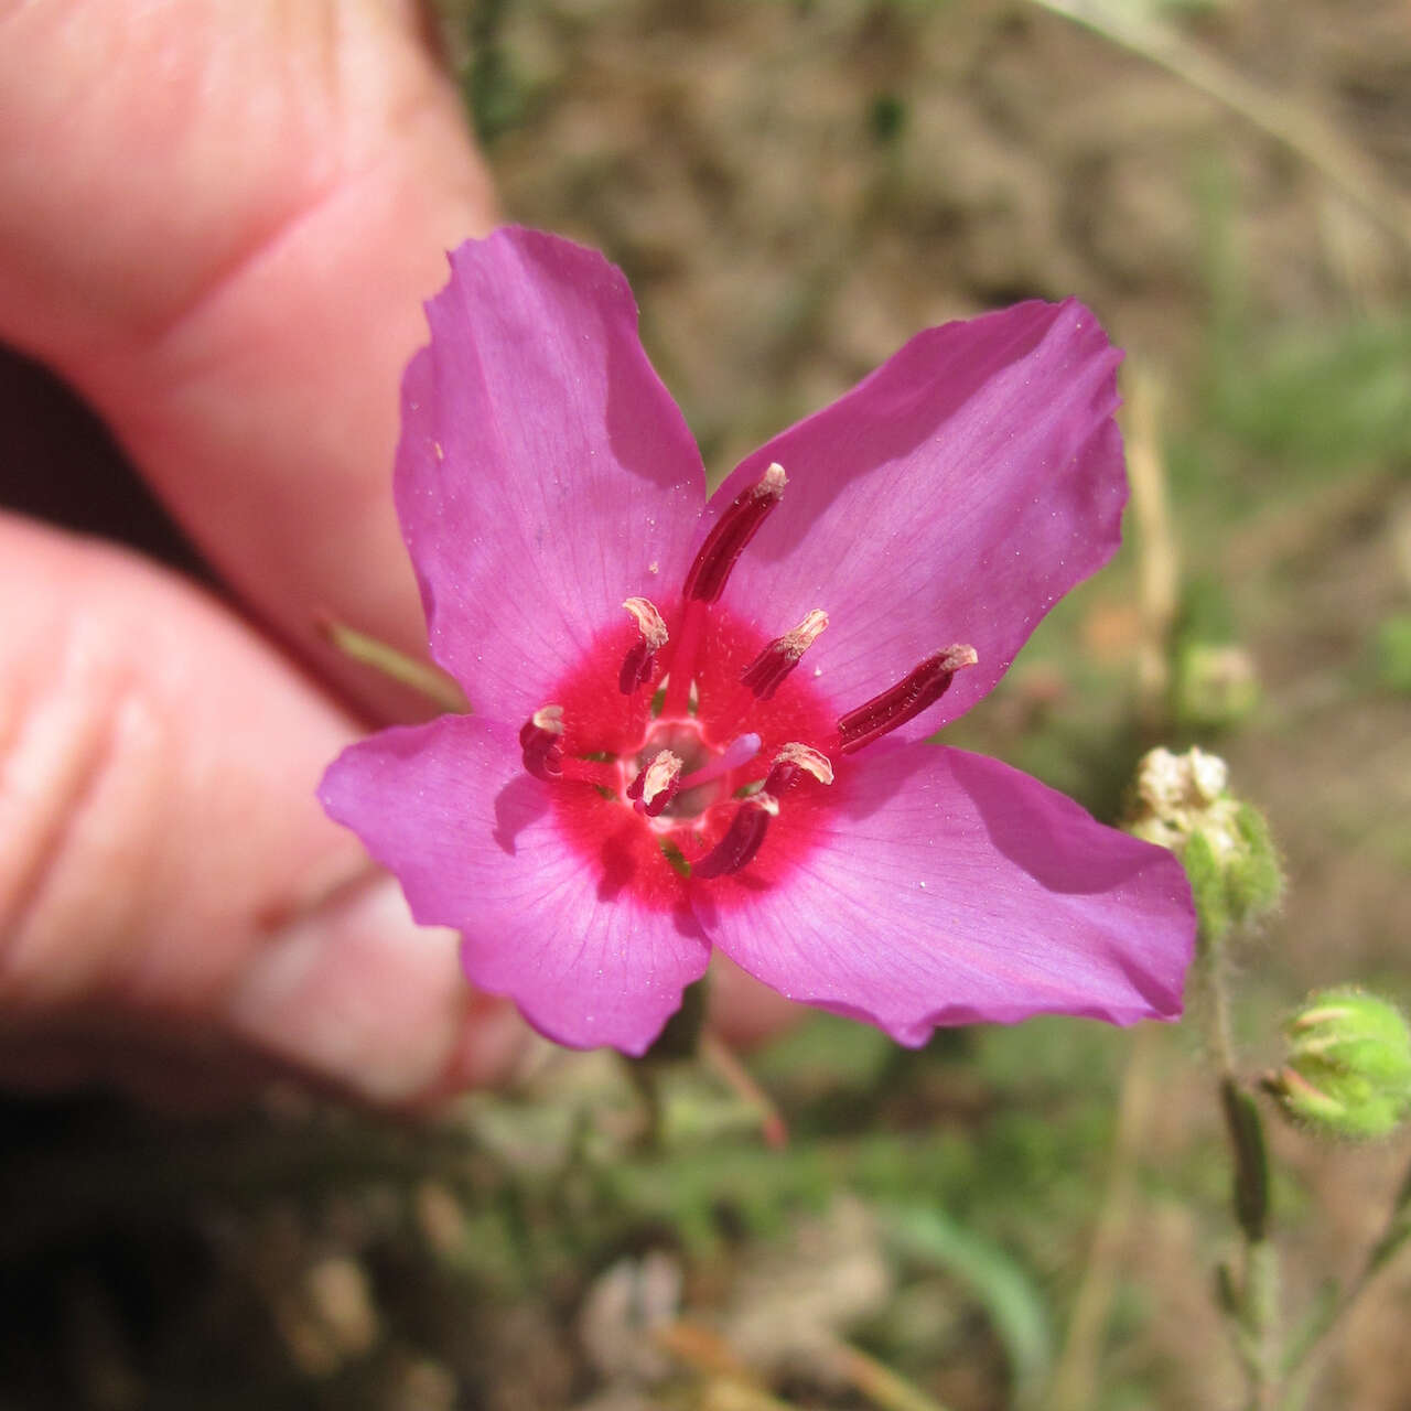
[[[1119,358],[1075,301],[912,339],[721,485],[706,528],[770,461],[789,476],[724,601],[766,638],[824,608],[828,631],[809,666],[840,713],[928,653],[969,643],[979,663],[897,738],[938,729],[993,687],[1040,618],[1118,546]]]

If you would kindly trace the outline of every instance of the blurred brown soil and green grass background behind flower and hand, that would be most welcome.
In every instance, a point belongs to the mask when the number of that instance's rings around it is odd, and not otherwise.
[[[1411,10],[1109,8],[440,18],[507,212],[622,265],[714,477],[926,325],[1077,293],[1127,349],[1127,545],[947,738],[1108,818],[1150,744],[1229,761],[1290,876],[1237,959],[1256,1072],[1311,986],[1411,1000]],[[0,1411],[1235,1407],[1198,1031],[818,1019],[751,1058],[783,1151],[701,1068],[653,1144],[621,1065],[547,1046],[429,1127],[11,1101]],[[1273,1126],[1294,1318],[1411,1141]],[[1411,1407],[1408,1315],[1411,1256],[1307,1405]]]

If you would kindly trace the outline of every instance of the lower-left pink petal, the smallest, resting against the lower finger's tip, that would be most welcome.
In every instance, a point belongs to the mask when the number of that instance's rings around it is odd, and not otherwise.
[[[508,727],[443,715],[382,731],[329,766],[319,797],[396,873],[418,921],[461,933],[470,979],[560,1044],[642,1053],[706,971],[684,890],[674,909],[641,904],[621,872],[586,865]]]

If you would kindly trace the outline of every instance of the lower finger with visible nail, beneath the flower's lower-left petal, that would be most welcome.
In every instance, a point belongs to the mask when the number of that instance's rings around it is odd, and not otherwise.
[[[0,1077],[141,1086],[171,1050],[378,1102],[495,1079],[518,1022],[468,1022],[454,937],[315,801],[350,735],[195,590],[0,518]]]

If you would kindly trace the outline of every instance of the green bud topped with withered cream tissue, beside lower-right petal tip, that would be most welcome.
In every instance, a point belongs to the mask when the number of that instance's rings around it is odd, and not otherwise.
[[[1185,865],[1204,945],[1219,944],[1236,924],[1256,921],[1277,904],[1284,872],[1257,809],[1226,787],[1218,755],[1153,749],[1137,766],[1127,831],[1170,848]]]

